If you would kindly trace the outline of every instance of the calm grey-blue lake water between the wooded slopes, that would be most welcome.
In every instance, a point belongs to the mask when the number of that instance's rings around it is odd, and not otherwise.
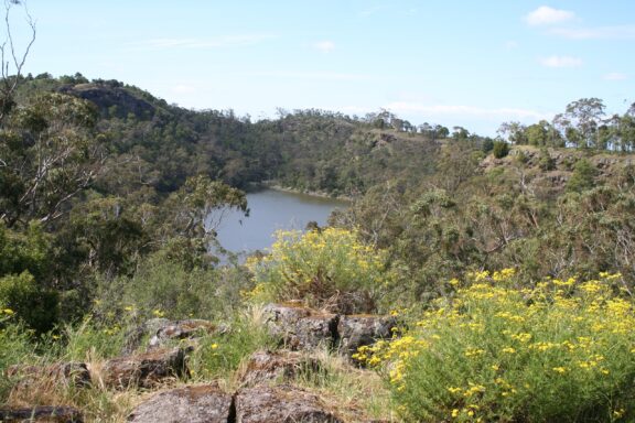
[[[275,189],[247,194],[247,202],[249,217],[238,213],[227,214],[218,228],[218,240],[229,251],[269,248],[276,230],[303,230],[311,220],[323,226],[331,212],[348,206],[343,200]]]

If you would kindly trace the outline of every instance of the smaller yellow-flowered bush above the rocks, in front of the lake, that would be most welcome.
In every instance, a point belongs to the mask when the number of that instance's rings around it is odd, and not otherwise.
[[[384,253],[338,228],[279,231],[270,254],[247,265],[257,301],[303,300],[344,313],[372,312],[385,276]]]

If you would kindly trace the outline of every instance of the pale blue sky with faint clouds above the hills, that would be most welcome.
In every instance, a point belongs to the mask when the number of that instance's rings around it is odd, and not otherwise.
[[[635,101],[635,1],[26,0],[23,72],[118,79],[252,120],[279,108],[495,135],[580,98]],[[28,26],[11,11],[18,47]]]

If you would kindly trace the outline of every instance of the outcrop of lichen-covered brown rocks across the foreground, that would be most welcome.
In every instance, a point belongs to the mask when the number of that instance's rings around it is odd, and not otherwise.
[[[324,422],[344,420],[320,395],[294,384],[302,375],[322,371],[316,351],[337,352],[357,366],[352,354],[363,345],[392,336],[397,321],[391,316],[340,315],[295,304],[265,307],[265,325],[279,339],[279,349],[260,350],[237,372],[239,388],[227,392],[217,383],[185,384],[164,389],[190,376],[187,355],[196,338],[214,330],[230,330],[200,319],[151,319],[128,334],[122,356],[99,369],[79,362],[13,367],[14,389],[29,389],[37,378],[52,383],[73,383],[77,389],[99,383],[108,390],[155,391],[128,415],[130,422]],[[143,339],[148,339],[143,343]],[[169,347],[179,341],[179,347]],[[184,345],[184,346],[182,346]],[[172,383],[173,384],[173,383]],[[83,413],[69,406],[0,409],[1,422],[83,422]],[[368,421],[360,415],[354,421]]]

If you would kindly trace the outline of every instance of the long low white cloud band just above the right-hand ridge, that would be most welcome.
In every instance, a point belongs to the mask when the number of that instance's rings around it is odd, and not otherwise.
[[[546,119],[548,115],[536,110],[517,108],[483,108],[463,105],[423,105],[419,102],[395,101],[386,106],[388,110],[397,113],[420,112],[429,115],[472,116],[477,118],[505,119]]]

